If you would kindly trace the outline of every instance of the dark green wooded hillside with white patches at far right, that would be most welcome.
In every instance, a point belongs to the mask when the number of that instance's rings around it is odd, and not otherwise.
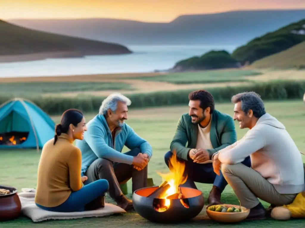
[[[251,40],[233,51],[232,57],[242,64],[246,62],[251,64],[303,41],[305,41],[305,19]]]

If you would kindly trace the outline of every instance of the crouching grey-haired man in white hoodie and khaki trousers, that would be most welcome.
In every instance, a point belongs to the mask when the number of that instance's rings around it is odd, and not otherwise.
[[[213,168],[218,174],[221,169],[241,206],[250,209],[247,219],[264,219],[266,210],[258,198],[283,206],[305,190],[302,157],[285,126],[266,113],[260,95],[239,93],[232,102],[234,120],[239,121],[240,129],[250,130],[213,155]],[[241,164],[247,156],[251,168]]]

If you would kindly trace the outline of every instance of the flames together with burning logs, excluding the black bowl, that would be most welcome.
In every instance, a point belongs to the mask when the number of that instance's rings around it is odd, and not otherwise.
[[[188,208],[187,203],[183,200],[185,197],[179,187],[187,180],[187,175],[184,176],[185,163],[177,160],[176,153],[169,160],[169,169],[170,172],[167,174],[158,172],[164,182],[148,196],[155,199],[154,209],[158,212],[167,210],[171,199],[180,199],[181,204]]]

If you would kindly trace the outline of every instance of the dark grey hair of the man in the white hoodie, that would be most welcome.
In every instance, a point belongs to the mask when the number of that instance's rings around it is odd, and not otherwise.
[[[256,92],[238,93],[231,98],[231,101],[235,104],[241,102],[242,111],[248,113],[251,109],[256,118],[260,118],[266,113],[264,102]]]

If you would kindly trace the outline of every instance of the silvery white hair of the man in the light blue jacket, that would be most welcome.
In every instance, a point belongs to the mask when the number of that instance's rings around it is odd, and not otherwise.
[[[105,100],[103,100],[99,108],[100,115],[106,115],[107,110],[111,109],[113,112],[117,110],[117,102],[123,102],[127,106],[131,105],[131,100],[120,93],[112,93]]]

